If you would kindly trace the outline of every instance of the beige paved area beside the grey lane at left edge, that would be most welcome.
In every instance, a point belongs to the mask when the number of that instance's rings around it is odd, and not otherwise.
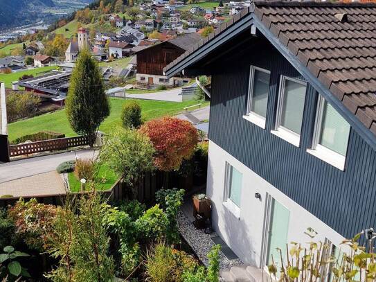
[[[65,193],[62,177],[56,171],[0,183],[0,197],[3,195],[31,197]]]

